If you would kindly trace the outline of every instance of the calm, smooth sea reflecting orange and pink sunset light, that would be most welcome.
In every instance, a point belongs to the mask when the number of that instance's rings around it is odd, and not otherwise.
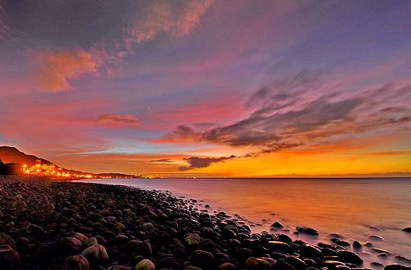
[[[198,207],[212,206],[210,212],[223,210],[239,214],[255,232],[269,230],[280,221],[290,230],[310,226],[319,230],[318,238],[295,236],[310,243],[329,242],[329,233],[342,234],[345,241],[364,243],[377,234],[385,241],[371,241],[379,247],[411,258],[411,179],[110,179],[84,180],[103,184],[123,184],[138,188],[170,191],[176,196],[203,200]],[[264,219],[266,221],[264,221]],[[371,255],[364,254],[364,251]],[[361,251],[359,251],[361,252]],[[362,249],[366,265],[384,259],[369,248]],[[401,262],[402,264],[407,264]]]

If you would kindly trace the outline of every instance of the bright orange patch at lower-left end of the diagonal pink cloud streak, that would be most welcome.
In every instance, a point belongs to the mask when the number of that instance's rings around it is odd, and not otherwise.
[[[40,56],[42,66],[38,74],[41,89],[61,92],[71,88],[70,80],[97,74],[97,63],[83,50],[48,52]]]

